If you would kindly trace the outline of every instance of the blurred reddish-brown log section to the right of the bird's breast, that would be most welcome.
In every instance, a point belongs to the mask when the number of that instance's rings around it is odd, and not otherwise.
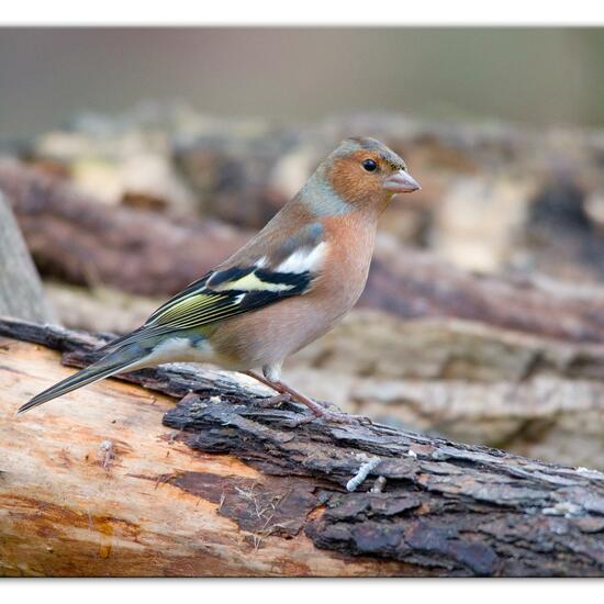
[[[604,289],[534,276],[488,276],[389,243],[360,304],[404,318],[457,317],[571,342],[604,342]]]

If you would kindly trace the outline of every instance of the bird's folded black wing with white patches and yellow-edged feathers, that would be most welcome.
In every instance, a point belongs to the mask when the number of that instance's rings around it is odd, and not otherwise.
[[[313,234],[311,232],[311,234]],[[210,271],[157,309],[145,324],[105,348],[142,338],[191,329],[307,293],[321,275],[326,243],[318,230],[313,236],[283,242],[272,256],[245,260]]]

